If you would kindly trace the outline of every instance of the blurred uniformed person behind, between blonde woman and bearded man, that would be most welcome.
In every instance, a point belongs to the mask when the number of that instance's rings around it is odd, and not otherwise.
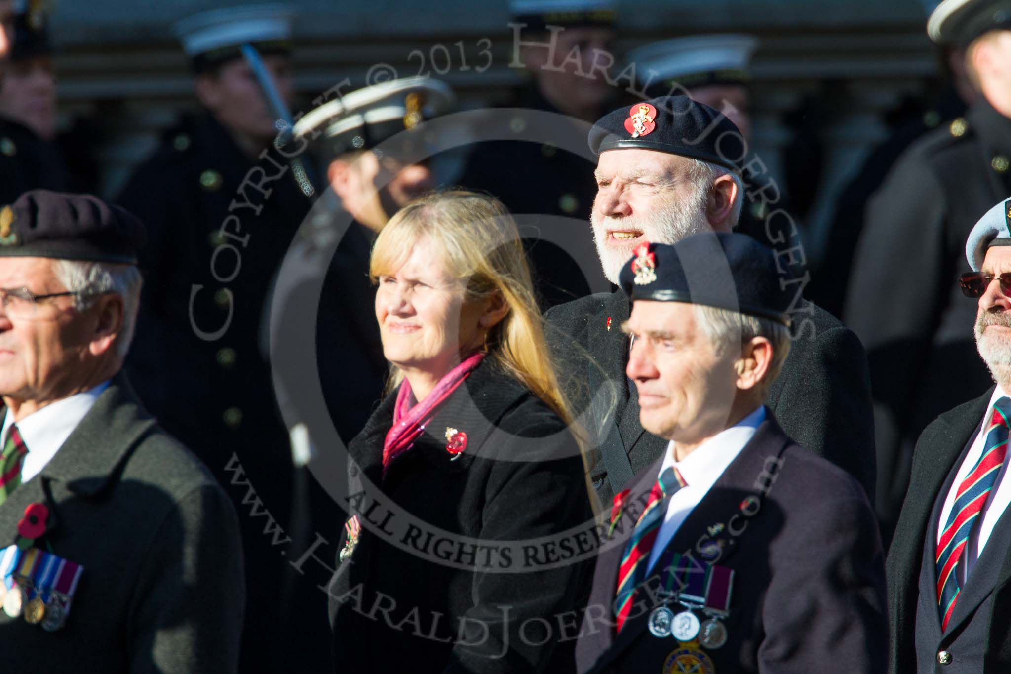
[[[614,64],[616,3],[607,0],[513,0],[511,68],[527,78],[505,106],[565,115],[554,124],[560,137],[585,136],[588,124],[607,111],[620,90],[608,82]],[[517,140],[485,141],[474,148],[460,182],[497,197],[517,215],[531,257],[535,289],[545,308],[589,293],[585,271],[558,245],[537,240],[527,225],[564,227],[565,235],[589,236],[596,184],[593,165],[550,142],[524,141],[531,122],[517,111],[511,128]],[[582,138],[579,138],[581,146]],[[555,216],[524,218],[524,215]],[[571,232],[569,233],[569,230]],[[595,271],[595,270],[594,270]]]

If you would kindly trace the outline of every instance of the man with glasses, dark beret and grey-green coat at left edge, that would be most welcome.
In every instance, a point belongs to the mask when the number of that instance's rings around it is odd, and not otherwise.
[[[33,190],[0,209],[0,657],[9,671],[234,672],[235,510],[122,374],[141,222]]]

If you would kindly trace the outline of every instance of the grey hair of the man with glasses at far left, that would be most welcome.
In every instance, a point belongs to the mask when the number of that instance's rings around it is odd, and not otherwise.
[[[57,260],[54,273],[64,287],[74,296],[74,308],[87,309],[98,295],[115,293],[123,300],[123,325],[116,343],[116,353],[126,356],[133,328],[136,326],[136,312],[141,305],[141,286],[144,277],[133,265],[118,265],[104,262],[84,262],[78,260]]]

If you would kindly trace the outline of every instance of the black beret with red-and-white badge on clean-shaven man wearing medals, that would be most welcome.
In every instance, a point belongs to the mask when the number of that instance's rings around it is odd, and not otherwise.
[[[619,281],[631,300],[705,304],[790,325],[793,292],[771,249],[745,234],[706,232],[673,246],[643,244]]]

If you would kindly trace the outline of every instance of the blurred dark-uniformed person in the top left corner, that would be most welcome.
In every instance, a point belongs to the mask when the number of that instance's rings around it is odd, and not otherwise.
[[[0,5],[8,38],[0,83],[0,203],[36,188],[70,188],[54,138],[57,83],[44,3],[14,0]]]

